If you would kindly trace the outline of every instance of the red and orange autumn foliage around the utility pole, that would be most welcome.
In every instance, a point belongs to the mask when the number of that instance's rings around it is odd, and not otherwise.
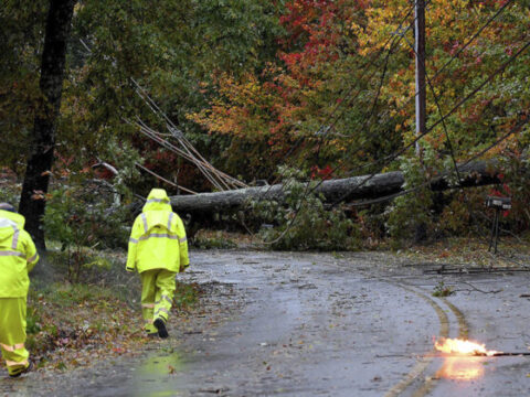
[[[506,3],[428,2],[427,125],[452,110],[523,44],[528,10],[515,3],[492,19]],[[219,95],[189,117],[209,133],[261,142],[266,157],[276,160],[303,137],[297,159],[308,168],[354,169],[388,155],[414,139],[413,18],[405,0],[289,1],[279,19],[286,34],[278,37],[276,60],[261,71],[218,75],[213,84]],[[528,71],[524,60],[528,55],[522,54],[445,120],[458,160],[490,144],[526,111],[529,96],[517,83]],[[360,144],[365,149],[351,155]],[[430,131],[422,144],[438,158],[447,155],[444,125]],[[516,137],[487,155],[513,146]]]

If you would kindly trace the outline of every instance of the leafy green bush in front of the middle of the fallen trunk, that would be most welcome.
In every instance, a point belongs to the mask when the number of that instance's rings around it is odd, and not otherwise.
[[[359,228],[341,208],[327,210],[324,196],[312,192],[316,181],[301,182],[304,173],[283,169],[284,202],[255,201],[254,215],[266,225],[259,232],[274,249],[346,250],[359,246]],[[308,185],[307,185],[308,183]]]

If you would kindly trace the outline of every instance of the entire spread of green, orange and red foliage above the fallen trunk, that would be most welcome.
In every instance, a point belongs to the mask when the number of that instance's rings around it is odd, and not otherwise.
[[[45,7],[9,4],[0,10],[6,32],[14,32],[0,41],[7,72],[0,77],[0,121],[11,133],[8,150],[0,148],[0,165],[22,174],[40,98],[35,65]],[[155,183],[174,185],[140,173],[136,163],[193,191],[214,189],[194,164],[127,122],[141,119],[172,139],[166,120],[136,95],[132,77],[206,160],[245,183],[280,179],[284,165],[315,180],[410,169],[418,176],[409,183],[422,184],[425,175],[453,172],[455,162],[495,158],[513,170],[504,182],[521,197],[515,208],[524,208],[528,189],[516,189],[522,179],[511,175],[526,170],[530,142],[529,2],[426,0],[427,130],[418,142],[421,159],[413,149],[413,6],[410,0],[80,3],[56,174],[75,174],[102,159],[128,175],[139,194]],[[11,14],[24,23],[14,23]],[[446,208],[464,212],[454,204]],[[522,219],[520,228],[530,224],[529,216]]]

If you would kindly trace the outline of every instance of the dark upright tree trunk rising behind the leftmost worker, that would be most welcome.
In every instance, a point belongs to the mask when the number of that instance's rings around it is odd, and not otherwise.
[[[42,215],[53,165],[56,120],[61,108],[66,42],[76,0],[50,0],[44,49],[42,52],[40,87],[41,105],[36,109],[33,141],[25,169],[19,211],[25,216],[25,229],[39,248],[45,249]]]

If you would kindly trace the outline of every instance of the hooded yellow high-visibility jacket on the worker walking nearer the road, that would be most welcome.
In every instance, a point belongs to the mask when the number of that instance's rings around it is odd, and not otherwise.
[[[181,272],[190,265],[182,219],[172,212],[163,189],[153,189],[135,219],[126,269],[142,272],[167,269]]]

